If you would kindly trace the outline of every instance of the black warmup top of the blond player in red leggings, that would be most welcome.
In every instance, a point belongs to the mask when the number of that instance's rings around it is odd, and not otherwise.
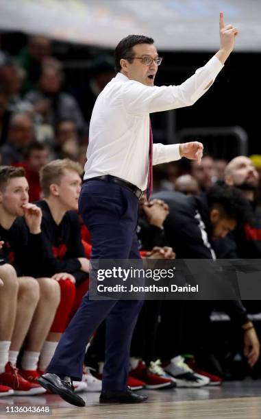
[[[52,277],[55,273],[68,272],[75,277],[76,283],[84,281],[88,274],[80,270],[77,259],[86,257],[77,213],[66,212],[57,225],[46,201],[36,201],[36,205],[42,210],[41,230],[46,253],[41,276]]]

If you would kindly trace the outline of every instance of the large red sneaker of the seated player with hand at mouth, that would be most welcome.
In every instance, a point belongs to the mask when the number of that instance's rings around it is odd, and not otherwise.
[[[18,373],[18,369],[12,366],[10,362],[5,365],[5,372],[0,374],[0,383],[11,387],[14,390],[14,395],[17,396],[42,394],[46,392],[40,384],[32,383],[24,379]]]

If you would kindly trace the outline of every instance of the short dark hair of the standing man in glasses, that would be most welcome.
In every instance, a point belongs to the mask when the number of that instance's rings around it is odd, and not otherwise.
[[[132,47],[138,44],[153,44],[154,40],[143,35],[128,35],[126,38],[123,38],[119,44],[116,46],[114,51],[114,60],[115,60],[115,70],[121,71],[121,58],[125,58],[129,62],[133,60],[132,57]]]

